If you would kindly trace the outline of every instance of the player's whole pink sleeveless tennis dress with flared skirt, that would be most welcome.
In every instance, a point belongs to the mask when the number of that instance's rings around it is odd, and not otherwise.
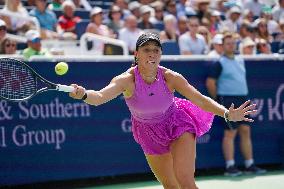
[[[211,128],[214,115],[188,100],[174,97],[160,67],[152,84],[142,79],[137,66],[134,73],[135,91],[125,101],[131,112],[134,139],[145,154],[167,153],[171,142],[183,133],[199,137]]]

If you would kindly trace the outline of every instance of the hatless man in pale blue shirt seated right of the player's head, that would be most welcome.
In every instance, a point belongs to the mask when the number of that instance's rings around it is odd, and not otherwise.
[[[201,55],[207,53],[207,44],[204,37],[198,34],[199,20],[197,17],[190,17],[188,20],[189,31],[179,37],[180,54]]]

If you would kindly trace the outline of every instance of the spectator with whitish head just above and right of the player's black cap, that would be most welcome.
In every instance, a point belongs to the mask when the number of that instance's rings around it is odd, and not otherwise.
[[[165,29],[160,32],[161,42],[176,41],[178,40],[177,34],[177,19],[171,14],[164,17]]]

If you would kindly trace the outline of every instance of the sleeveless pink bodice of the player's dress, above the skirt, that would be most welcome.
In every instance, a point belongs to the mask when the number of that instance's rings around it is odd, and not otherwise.
[[[147,84],[134,69],[135,91],[132,97],[126,99],[126,104],[134,119],[141,122],[159,122],[166,116],[166,112],[174,103],[174,95],[169,91],[162,68],[158,67],[156,80]]]

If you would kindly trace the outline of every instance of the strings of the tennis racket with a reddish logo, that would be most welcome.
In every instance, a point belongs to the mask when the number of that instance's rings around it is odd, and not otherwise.
[[[0,95],[7,99],[23,99],[36,91],[36,80],[29,69],[16,61],[0,62]]]

